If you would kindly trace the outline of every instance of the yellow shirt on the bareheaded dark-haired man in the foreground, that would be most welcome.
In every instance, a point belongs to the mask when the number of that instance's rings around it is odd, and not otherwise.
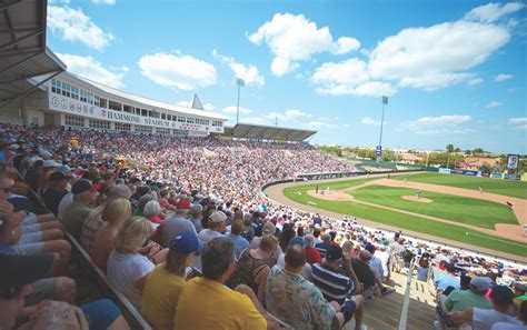
[[[249,297],[223,284],[195,278],[179,298],[175,330],[265,330],[267,321]]]

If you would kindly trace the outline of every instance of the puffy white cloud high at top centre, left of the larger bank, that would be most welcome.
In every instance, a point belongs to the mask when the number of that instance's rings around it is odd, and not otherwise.
[[[314,54],[344,54],[360,48],[356,39],[340,37],[334,41],[328,27],[319,29],[304,14],[291,13],[276,13],[248,39],[255,44],[267,43],[275,56],[271,72],[278,77],[294,71],[299,61],[307,61]]]

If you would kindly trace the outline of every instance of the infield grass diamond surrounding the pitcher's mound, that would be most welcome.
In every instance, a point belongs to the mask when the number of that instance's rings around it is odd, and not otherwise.
[[[415,202],[401,198],[414,196],[415,189],[386,186],[368,186],[348,193],[357,200],[481,228],[495,229],[495,223],[518,224],[516,216],[507,206],[487,200],[421,191],[421,197],[434,202]]]

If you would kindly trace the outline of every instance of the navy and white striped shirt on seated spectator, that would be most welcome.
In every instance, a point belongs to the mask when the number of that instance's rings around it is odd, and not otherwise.
[[[346,298],[349,298],[355,291],[354,282],[338,270],[328,264],[312,264],[312,282],[317,286],[328,301],[337,301],[344,304]]]

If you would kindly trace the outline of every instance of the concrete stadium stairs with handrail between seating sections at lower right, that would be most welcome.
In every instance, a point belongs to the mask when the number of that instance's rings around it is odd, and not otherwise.
[[[369,330],[398,329],[401,306],[405,298],[407,276],[392,273],[396,292],[381,298],[367,299],[365,302],[364,324]],[[410,303],[408,308],[408,330],[434,330],[436,319],[435,298],[427,283],[416,280],[410,283]],[[352,329],[352,327],[349,327]]]

